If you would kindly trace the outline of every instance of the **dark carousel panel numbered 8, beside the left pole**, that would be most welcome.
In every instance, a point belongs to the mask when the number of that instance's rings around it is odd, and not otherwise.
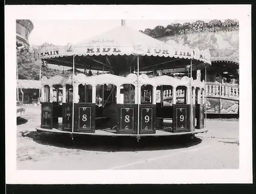
[[[95,132],[95,104],[75,103],[75,132]]]

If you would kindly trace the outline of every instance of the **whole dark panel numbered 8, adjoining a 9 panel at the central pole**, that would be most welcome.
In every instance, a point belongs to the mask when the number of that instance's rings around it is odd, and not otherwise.
[[[117,133],[136,134],[138,104],[118,104]]]

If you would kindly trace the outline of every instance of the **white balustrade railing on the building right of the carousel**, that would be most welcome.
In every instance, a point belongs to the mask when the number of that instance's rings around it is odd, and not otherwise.
[[[206,96],[239,100],[239,85],[206,82]]]

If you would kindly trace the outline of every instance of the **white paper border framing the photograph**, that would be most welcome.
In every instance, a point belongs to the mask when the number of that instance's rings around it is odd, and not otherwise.
[[[16,19],[239,19],[239,169],[16,170]],[[142,29],[143,30],[143,29]],[[7,184],[252,183],[251,5],[5,6]],[[156,178],[157,177],[157,178]]]

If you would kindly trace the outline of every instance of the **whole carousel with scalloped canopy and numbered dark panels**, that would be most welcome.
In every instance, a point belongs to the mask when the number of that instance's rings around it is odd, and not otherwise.
[[[168,45],[124,25],[78,44],[37,51],[44,62],[73,68],[41,77],[37,131],[94,136],[173,136],[207,132],[205,81],[145,71],[211,64],[208,51]],[[83,69],[87,73],[75,73]],[[101,71],[93,75],[91,70]]]

